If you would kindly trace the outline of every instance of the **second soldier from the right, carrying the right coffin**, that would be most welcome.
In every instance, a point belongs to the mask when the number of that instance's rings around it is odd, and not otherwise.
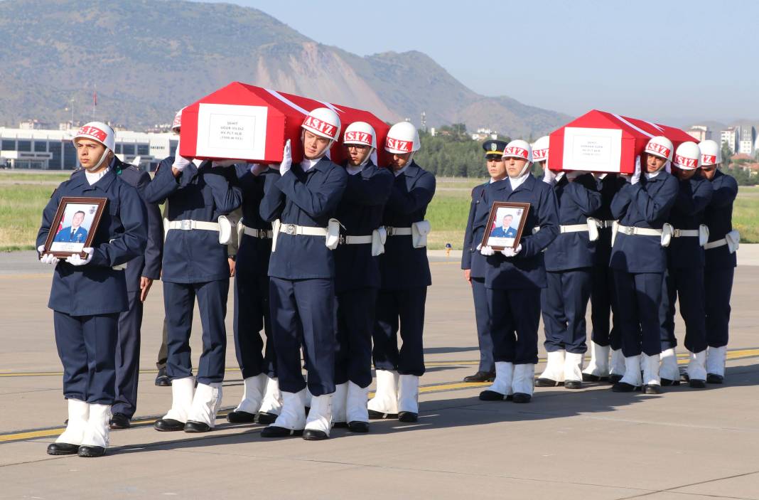
[[[675,151],[672,173],[679,180],[677,201],[669,213],[667,230],[672,239],[666,248],[667,272],[663,283],[660,321],[662,385],[679,384],[675,347],[675,301],[685,321],[685,348],[688,350],[688,384],[691,388],[707,385],[707,331],[704,308],[704,248],[709,237],[701,226],[704,209],[711,201],[710,182],[699,175],[701,150],[694,142],[684,142]]]

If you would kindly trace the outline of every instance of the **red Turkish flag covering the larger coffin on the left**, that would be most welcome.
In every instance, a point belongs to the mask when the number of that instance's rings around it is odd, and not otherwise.
[[[303,160],[301,124],[308,112],[322,107],[337,112],[342,125],[339,141],[330,150],[332,161],[341,163],[345,159],[342,131],[353,122],[372,125],[382,149],[389,126],[368,111],[236,81],[182,110],[180,154],[187,158],[279,163],[285,141],[290,139],[292,159],[298,163]]]

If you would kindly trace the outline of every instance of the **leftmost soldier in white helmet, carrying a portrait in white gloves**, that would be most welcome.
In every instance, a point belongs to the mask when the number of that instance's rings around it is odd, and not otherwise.
[[[53,192],[37,233],[39,261],[55,266],[48,306],[53,310],[63,393],[68,400],[66,430],[47,452],[99,457],[108,448],[115,400],[118,316],[129,309],[122,264],[145,252],[147,217],[137,190],[110,168],[115,156],[113,129],[90,122],[77,131],[73,142],[83,168]],[[108,201],[93,246],[83,248],[87,257],[72,254],[61,262],[42,252],[55,212],[66,196]]]

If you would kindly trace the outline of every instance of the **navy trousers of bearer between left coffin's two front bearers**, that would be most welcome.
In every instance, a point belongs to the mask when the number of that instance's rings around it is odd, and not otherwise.
[[[238,272],[235,276],[235,355],[243,378],[266,373],[276,378],[276,354],[269,321],[269,277]],[[264,350],[261,331],[266,335]]]

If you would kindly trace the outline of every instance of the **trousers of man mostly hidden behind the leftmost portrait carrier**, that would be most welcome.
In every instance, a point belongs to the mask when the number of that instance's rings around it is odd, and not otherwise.
[[[116,400],[113,413],[130,419],[137,410],[137,381],[140,378],[140,331],[143,303],[140,292],[127,292],[129,310],[118,315],[116,343]]]

